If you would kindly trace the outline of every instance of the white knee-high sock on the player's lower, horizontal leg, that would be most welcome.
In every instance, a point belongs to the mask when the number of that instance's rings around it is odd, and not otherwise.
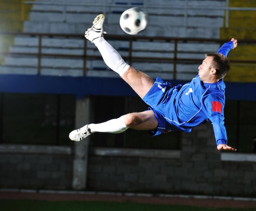
[[[117,119],[111,119],[109,121],[99,124],[89,124],[91,132],[106,132],[106,133],[122,133],[128,129],[124,123],[124,115]]]

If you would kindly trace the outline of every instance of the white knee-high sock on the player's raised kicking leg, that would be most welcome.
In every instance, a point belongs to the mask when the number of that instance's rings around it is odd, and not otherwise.
[[[120,76],[128,70],[130,65],[124,62],[121,55],[103,37],[95,39],[93,43],[98,48],[104,62],[110,69],[114,70]]]

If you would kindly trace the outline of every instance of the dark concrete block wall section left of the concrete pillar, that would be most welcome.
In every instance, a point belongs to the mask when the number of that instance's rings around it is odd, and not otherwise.
[[[73,156],[67,152],[58,147],[0,145],[0,187],[71,189]]]

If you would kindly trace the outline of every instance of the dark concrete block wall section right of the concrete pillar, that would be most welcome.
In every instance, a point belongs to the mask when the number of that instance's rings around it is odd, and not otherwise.
[[[91,155],[88,189],[255,196],[256,163],[222,161],[221,153],[216,149],[212,125],[207,123],[182,134],[178,158]]]

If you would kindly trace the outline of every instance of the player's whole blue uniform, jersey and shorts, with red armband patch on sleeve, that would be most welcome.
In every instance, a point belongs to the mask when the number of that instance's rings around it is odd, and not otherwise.
[[[227,56],[233,48],[233,42],[225,43],[217,53]],[[207,84],[197,75],[191,82],[173,86],[159,77],[143,100],[151,106],[158,121],[151,135],[162,132],[191,132],[192,128],[211,121],[216,144],[227,144],[227,132],[224,126],[225,84],[223,79]]]

